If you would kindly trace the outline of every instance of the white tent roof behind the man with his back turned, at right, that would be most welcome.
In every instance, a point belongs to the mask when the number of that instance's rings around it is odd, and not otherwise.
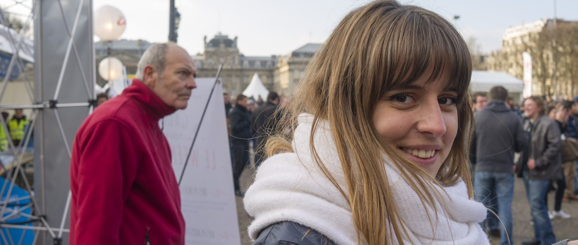
[[[509,93],[522,93],[524,82],[503,71],[472,71],[472,92],[488,92],[495,86],[502,86]]]

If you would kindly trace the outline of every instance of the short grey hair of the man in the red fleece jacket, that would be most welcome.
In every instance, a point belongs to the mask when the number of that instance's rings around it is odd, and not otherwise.
[[[153,44],[144,51],[143,56],[140,57],[139,64],[136,66],[136,79],[144,82],[144,67],[149,64],[157,70],[158,77],[161,77],[162,72],[165,70],[165,58],[166,52],[169,50],[169,44],[173,43]]]

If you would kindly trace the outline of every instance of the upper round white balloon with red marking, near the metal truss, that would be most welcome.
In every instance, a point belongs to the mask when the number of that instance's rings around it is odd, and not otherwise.
[[[116,7],[105,5],[94,12],[94,34],[102,41],[118,39],[126,26],[123,12]]]

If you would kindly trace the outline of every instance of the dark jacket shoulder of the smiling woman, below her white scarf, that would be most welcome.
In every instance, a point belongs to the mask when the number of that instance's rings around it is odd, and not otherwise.
[[[335,245],[326,236],[298,223],[283,221],[263,229],[252,245]]]

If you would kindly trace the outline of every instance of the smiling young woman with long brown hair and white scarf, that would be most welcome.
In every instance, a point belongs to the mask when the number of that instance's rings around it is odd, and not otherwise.
[[[347,14],[246,192],[253,244],[489,244],[463,181],[471,70],[438,14],[390,0]]]

